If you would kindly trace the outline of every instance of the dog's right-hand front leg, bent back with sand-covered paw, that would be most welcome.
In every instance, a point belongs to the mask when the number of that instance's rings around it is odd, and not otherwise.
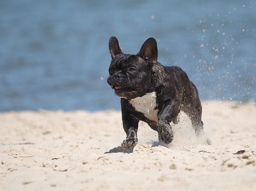
[[[170,122],[176,120],[179,113],[180,101],[172,101],[158,115],[158,136],[159,140],[162,140],[165,144],[170,144],[173,140]]]

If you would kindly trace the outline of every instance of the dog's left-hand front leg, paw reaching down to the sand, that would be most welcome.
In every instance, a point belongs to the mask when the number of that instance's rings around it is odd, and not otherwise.
[[[132,114],[123,115],[123,127],[126,133],[126,139],[121,146],[124,149],[133,148],[138,143],[137,131],[139,120]]]

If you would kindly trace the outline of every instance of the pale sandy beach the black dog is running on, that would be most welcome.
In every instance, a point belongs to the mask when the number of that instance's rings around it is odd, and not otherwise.
[[[256,190],[255,103],[202,105],[204,137],[181,113],[170,145],[140,122],[126,150],[119,111],[0,113],[0,190]]]

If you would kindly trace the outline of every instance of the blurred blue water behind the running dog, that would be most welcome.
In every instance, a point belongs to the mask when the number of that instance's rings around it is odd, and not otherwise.
[[[0,1],[0,112],[120,110],[107,84],[116,36],[185,70],[201,100],[256,99],[256,1]]]

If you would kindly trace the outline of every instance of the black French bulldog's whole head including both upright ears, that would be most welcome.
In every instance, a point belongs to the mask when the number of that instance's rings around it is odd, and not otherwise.
[[[124,54],[116,37],[109,39],[112,57],[109,67],[108,84],[120,98],[133,99],[148,93],[151,82],[151,69],[157,62],[157,45],[149,38],[136,55]]]

